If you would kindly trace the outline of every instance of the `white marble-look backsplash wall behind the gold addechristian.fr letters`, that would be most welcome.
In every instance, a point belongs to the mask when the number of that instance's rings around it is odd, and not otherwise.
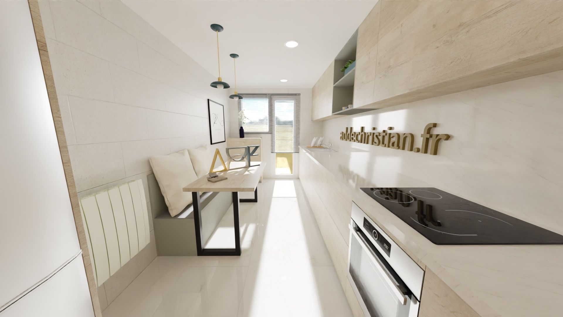
[[[347,126],[356,131],[394,126],[415,134],[419,147],[418,136],[430,122],[438,124],[434,133],[452,135],[436,156],[339,140]],[[562,122],[559,71],[328,120],[323,132],[338,151],[367,151],[367,165],[385,166],[563,234]],[[365,170],[351,173],[361,177]],[[391,183],[395,180],[382,177],[376,186]]]

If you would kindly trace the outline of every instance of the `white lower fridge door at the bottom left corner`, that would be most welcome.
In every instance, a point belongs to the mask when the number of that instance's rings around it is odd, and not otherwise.
[[[82,254],[0,312],[1,317],[93,317]]]

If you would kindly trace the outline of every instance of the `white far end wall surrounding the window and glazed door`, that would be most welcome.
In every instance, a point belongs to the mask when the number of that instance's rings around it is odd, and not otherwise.
[[[233,94],[231,89],[231,94]],[[318,137],[323,133],[323,122],[311,120],[311,104],[312,104],[312,89],[267,89],[267,88],[238,88],[239,94],[301,94],[301,130],[300,130],[300,144],[311,144],[313,137]],[[230,127],[231,137],[238,138],[239,136],[239,117],[238,117],[238,102],[234,99],[229,99],[231,108],[230,112]],[[275,175],[275,153],[271,153],[271,135],[270,134],[250,134],[245,133],[247,138],[262,138],[262,160],[266,161],[266,170],[264,171],[265,178],[279,178]],[[293,178],[297,178],[299,174],[299,153],[293,154]]]

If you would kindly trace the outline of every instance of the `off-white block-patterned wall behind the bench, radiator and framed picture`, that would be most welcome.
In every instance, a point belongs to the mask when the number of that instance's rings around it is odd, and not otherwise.
[[[208,98],[225,105],[229,137],[228,91],[120,1],[40,5],[78,195],[141,178],[150,213],[149,156],[209,144]],[[155,257],[151,232],[100,287],[102,309]]]

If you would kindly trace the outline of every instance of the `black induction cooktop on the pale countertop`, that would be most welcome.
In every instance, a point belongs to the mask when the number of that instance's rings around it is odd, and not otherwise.
[[[434,187],[360,189],[434,244],[563,244],[563,235]]]

